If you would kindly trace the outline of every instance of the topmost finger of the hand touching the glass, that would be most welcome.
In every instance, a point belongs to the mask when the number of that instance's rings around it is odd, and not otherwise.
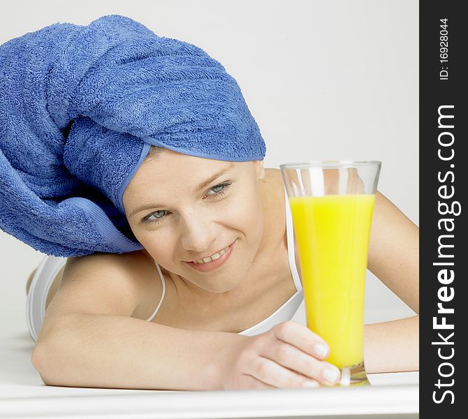
[[[277,339],[296,346],[315,358],[323,360],[330,355],[330,348],[326,341],[305,325],[295,321],[285,321],[271,330]]]

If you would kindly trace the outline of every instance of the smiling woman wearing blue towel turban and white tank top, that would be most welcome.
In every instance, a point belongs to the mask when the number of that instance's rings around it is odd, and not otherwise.
[[[125,17],[46,29],[0,50],[10,136],[0,145],[11,161],[0,165],[0,222],[67,258],[32,354],[44,383],[338,383],[327,342],[288,321],[302,300],[291,214],[235,80],[198,47]],[[24,61],[28,48],[34,60]],[[201,263],[208,256],[213,265]],[[418,228],[377,194],[368,267],[416,313],[417,257]],[[367,372],[418,369],[417,321],[366,326]]]

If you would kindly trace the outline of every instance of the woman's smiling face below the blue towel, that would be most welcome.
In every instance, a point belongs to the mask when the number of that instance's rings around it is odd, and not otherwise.
[[[127,186],[126,217],[152,258],[192,289],[231,291],[246,277],[263,235],[263,177],[263,161],[219,161],[164,149],[142,163]],[[187,263],[235,240],[226,263],[211,272]]]

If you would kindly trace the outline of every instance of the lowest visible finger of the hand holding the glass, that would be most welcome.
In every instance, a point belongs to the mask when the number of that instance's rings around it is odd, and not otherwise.
[[[300,388],[305,381],[314,381],[261,356],[256,358],[248,373],[257,380],[278,388]]]

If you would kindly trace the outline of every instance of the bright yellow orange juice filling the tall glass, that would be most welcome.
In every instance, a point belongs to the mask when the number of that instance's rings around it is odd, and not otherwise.
[[[288,198],[298,242],[307,327],[339,368],[363,362],[364,294],[375,195]]]

